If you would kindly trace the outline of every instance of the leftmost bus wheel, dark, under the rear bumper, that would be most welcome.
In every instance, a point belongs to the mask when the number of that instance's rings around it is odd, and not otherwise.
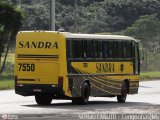
[[[50,105],[52,97],[44,94],[37,94],[35,95],[35,100],[38,105]]]

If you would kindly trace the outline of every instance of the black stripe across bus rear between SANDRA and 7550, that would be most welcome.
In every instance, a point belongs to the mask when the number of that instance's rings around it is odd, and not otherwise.
[[[59,55],[23,55],[23,54],[19,54],[17,56],[18,58],[59,58]]]

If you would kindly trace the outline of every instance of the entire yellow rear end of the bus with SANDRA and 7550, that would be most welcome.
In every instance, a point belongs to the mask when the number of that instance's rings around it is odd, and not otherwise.
[[[59,45],[62,36],[54,32],[19,32],[16,41],[15,92],[36,95],[38,104],[63,92],[59,84]],[[43,95],[43,96],[42,96]],[[48,97],[48,101],[43,100]],[[40,100],[39,100],[40,99]]]

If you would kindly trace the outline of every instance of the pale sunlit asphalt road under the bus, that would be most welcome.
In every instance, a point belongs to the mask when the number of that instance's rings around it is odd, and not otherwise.
[[[160,80],[140,82],[139,93],[128,95],[126,103],[117,103],[116,98],[90,97],[88,105],[53,100],[50,106],[38,106],[34,97],[16,95],[14,90],[0,91],[0,120],[6,115],[18,120],[102,119],[99,115],[114,119],[111,115],[115,114],[160,114]]]

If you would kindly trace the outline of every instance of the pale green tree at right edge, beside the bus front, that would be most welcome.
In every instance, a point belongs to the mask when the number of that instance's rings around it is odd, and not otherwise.
[[[133,36],[143,44],[145,49],[145,69],[148,69],[148,53],[160,53],[160,21],[157,14],[141,16],[125,35]]]

